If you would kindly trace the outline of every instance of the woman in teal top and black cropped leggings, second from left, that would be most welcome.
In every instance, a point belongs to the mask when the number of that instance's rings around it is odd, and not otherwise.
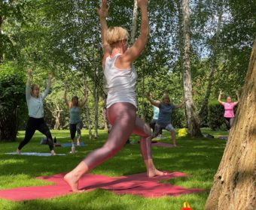
[[[81,108],[87,102],[87,88],[84,87],[84,100],[79,103],[78,97],[73,96],[72,101],[67,100],[67,88],[64,91],[63,99],[66,106],[69,108],[69,131],[70,137],[72,139],[72,145],[74,145],[75,132],[77,132],[77,145],[80,145],[81,139],[81,129],[83,127],[83,122],[81,120]]]

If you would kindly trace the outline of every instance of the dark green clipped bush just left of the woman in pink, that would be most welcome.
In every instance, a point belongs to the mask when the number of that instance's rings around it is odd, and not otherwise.
[[[224,107],[218,101],[208,104],[208,123],[212,130],[221,130],[224,124]]]

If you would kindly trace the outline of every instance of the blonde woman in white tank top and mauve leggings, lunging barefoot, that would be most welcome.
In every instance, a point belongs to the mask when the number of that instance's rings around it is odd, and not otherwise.
[[[151,157],[151,129],[149,125],[136,116],[135,86],[137,74],[133,62],[145,48],[149,31],[148,1],[137,0],[137,3],[142,13],[142,23],[140,35],[130,48],[128,48],[129,34],[126,29],[107,27],[108,5],[106,0],[102,0],[102,5],[98,10],[104,50],[102,67],[108,86],[107,113],[112,128],[102,148],[90,152],[75,169],[65,175],[64,180],[75,192],[81,191],[78,190],[78,180],[81,176],[117,154],[126,144],[131,133],[136,133],[141,137],[140,150],[148,177],[166,174],[154,166]]]

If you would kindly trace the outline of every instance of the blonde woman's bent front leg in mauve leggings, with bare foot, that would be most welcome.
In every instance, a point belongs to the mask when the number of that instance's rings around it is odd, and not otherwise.
[[[142,121],[141,118],[136,117],[136,125],[133,129],[133,133],[141,136],[139,144],[142,157],[147,168],[148,177],[154,177],[156,175],[166,175],[166,172],[161,172],[154,166],[151,157],[151,129],[149,125],[146,124],[145,121]]]

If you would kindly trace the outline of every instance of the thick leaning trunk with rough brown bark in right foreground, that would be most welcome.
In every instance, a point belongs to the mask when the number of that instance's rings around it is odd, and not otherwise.
[[[256,208],[256,39],[242,89],[242,98],[206,210]]]

